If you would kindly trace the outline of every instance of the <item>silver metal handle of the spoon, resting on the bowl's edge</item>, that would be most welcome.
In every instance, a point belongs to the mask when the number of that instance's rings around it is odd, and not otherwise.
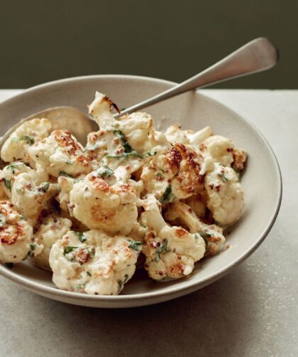
[[[194,77],[184,80],[184,82],[175,85],[175,87],[165,90],[154,97],[144,100],[121,112],[122,114],[136,112],[144,107],[161,102],[170,97],[175,97],[188,90],[194,90],[198,87],[214,85],[224,80],[250,75],[262,70],[272,68],[278,60],[278,51],[267,38],[256,38],[246,43],[238,50],[232,52],[211,67],[203,70]],[[117,114],[115,117],[118,117]]]

